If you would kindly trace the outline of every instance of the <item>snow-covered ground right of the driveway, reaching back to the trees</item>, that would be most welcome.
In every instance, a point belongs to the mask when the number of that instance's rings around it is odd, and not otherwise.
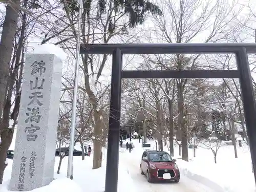
[[[232,145],[224,144],[217,153],[217,164],[209,149],[199,145],[196,150],[196,158],[193,157],[193,149],[189,150],[189,159],[186,162],[178,159],[179,166],[184,174],[200,181],[211,188],[222,188],[227,192],[255,192],[255,181],[251,167],[249,147],[243,144],[237,146],[238,158],[234,158]],[[178,147],[175,147],[175,156],[178,157]],[[218,190],[217,190],[218,191]]]

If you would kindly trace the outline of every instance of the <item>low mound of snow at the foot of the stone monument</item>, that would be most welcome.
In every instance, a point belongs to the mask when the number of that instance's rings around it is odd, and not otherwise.
[[[1,192],[7,192],[8,190],[8,182],[5,182],[1,187]],[[55,179],[53,180],[49,185],[36,188],[34,190],[31,190],[33,192],[70,192],[70,191],[76,191],[76,192],[82,192],[81,188],[72,180],[67,178],[62,179]]]

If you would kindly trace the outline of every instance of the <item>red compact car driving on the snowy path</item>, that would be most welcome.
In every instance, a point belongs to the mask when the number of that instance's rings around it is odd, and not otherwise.
[[[180,170],[170,155],[163,151],[144,151],[141,163],[141,175],[146,175],[148,182],[180,181]]]

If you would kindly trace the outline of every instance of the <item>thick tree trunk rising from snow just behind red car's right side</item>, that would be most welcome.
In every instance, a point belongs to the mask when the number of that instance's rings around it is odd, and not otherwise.
[[[188,146],[187,146],[187,126],[185,126],[184,116],[184,102],[183,102],[183,85],[182,82],[178,83],[178,108],[179,108],[179,129],[181,130],[181,158],[188,161]]]

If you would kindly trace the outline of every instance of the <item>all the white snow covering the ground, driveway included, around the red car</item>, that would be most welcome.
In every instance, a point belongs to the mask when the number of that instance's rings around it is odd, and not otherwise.
[[[128,140],[127,140],[128,141]],[[148,183],[145,176],[140,174],[140,159],[143,152],[139,140],[132,140],[135,145],[132,153],[120,149],[119,154],[119,192],[255,192],[254,178],[251,171],[251,160],[248,147],[238,147],[238,159],[234,158],[233,147],[221,146],[217,154],[217,164],[210,150],[199,147],[196,151],[197,157],[193,158],[192,149],[189,149],[189,159],[185,162],[179,159],[178,147],[175,147],[175,158],[181,172],[179,183]],[[125,141],[123,143],[126,143]],[[152,148],[155,141],[150,141]],[[75,148],[79,150],[79,145]],[[14,148],[11,144],[10,148]],[[167,149],[165,150],[167,151]],[[56,157],[55,173],[58,165]],[[74,157],[73,181],[66,179],[68,157],[63,159],[60,174],[55,174],[55,180],[48,186],[35,189],[41,191],[76,191],[76,192],[103,192],[105,182],[105,160],[106,151],[103,153],[103,166],[92,170],[93,157]],[[8,160],[4,176],[4,184],[0,185],[1,192],[7,192],[7,186],[11,177],[12,161]]]

